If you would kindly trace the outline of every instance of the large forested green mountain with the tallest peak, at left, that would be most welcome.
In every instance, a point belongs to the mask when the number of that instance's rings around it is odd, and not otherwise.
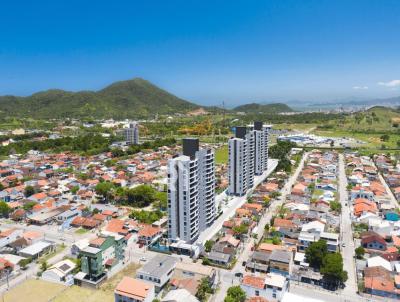
[[[200,106],[135,78],[100,91],[47,90],[27,97],[0,96],[0,114],[32,118],[140,118],[185,113]]]

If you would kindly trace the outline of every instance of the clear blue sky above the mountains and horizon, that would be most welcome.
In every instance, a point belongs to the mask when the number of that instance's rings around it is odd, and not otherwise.
[[[134,77],[228,106],[400,95],[395,0],[2,1],[0,28],[1,95]]]

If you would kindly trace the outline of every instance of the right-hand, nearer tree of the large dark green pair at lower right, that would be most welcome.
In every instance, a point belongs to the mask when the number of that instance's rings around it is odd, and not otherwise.
[[[325,255],[320,271],[324,279],[330,283],[339,284],[347,280],[347,272],[343,270],[343,258],[340,253]]]

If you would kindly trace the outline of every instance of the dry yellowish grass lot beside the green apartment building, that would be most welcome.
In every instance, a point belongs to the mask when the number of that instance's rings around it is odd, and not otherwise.
[[[16,302],[114,302],[114,289],[124,276],[135,276],[138,264],[130,264],[108,279],[99,289],[64,285],[36,279],[28,279],[7,292],[2,301]]]

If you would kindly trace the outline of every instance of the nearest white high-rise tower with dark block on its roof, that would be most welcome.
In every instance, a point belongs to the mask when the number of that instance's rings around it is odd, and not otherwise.
[[[215,217],[214,153],[184,139],[183,154],[168,161],[169,240],[193,243]]]

